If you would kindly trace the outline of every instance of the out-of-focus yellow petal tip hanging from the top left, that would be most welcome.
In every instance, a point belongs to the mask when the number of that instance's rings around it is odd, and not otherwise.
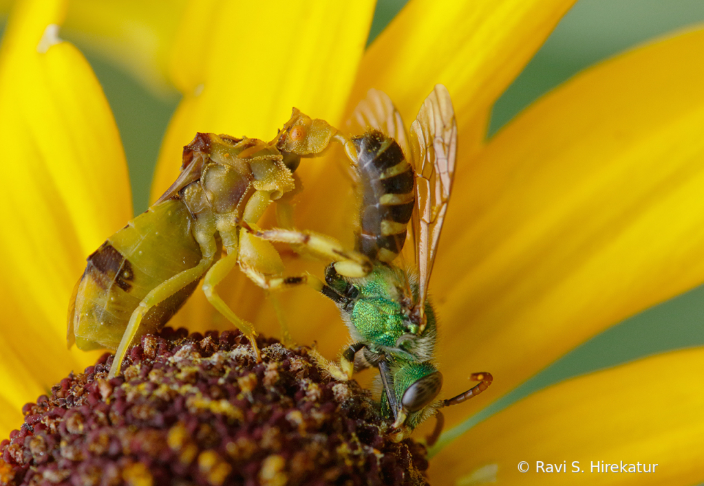
[[[155,94],[175,94],[168,64],[186,0],[71,1],[62,32],[110,58]]]

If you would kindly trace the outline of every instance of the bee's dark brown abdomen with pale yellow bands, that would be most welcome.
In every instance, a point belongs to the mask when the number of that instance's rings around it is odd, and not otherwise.
[[[413,213],[413,168],[398,143],[377,130],[353,137],[362,189],[357,250],[391,262],[406,241]]]

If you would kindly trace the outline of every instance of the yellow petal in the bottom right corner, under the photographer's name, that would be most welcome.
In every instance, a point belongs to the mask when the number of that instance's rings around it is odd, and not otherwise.
[[[554,385],[479,423],[431,461],[435,484],[494,466],[502,485],[694,485],[704,481],[704,348],[661,354]],[[520,473],[518,463],[529,471]],[[567,473],[536,473],[536,461]],[[572,461],[584,473],[572,473]],[[598,473],[657,463],[655,473]],[[628,469],[628,466],[626,466]],[[652,469],[652,468],[651,468]],[[636,466],[637,471],[637,466]],[[458,484],[471,484],[459,482]]]

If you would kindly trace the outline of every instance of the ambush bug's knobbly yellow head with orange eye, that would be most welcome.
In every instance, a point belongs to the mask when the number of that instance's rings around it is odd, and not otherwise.
[[[312,157],[325,151],[335,134],[337,129],[325,120],[313,119],[294,108],[291,119],[271,143],[284,155],[284,162],[289,160],[289,165],[294,160],[300,162],[301,157]]]

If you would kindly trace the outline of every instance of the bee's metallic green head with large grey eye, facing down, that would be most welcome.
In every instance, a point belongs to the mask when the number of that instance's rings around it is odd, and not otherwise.
[[[442,406],[442,374],[431,362],[401,362],[390,371],[393,390],[382,392],[382,414],[394,418],[394,428],[413,430]]]

